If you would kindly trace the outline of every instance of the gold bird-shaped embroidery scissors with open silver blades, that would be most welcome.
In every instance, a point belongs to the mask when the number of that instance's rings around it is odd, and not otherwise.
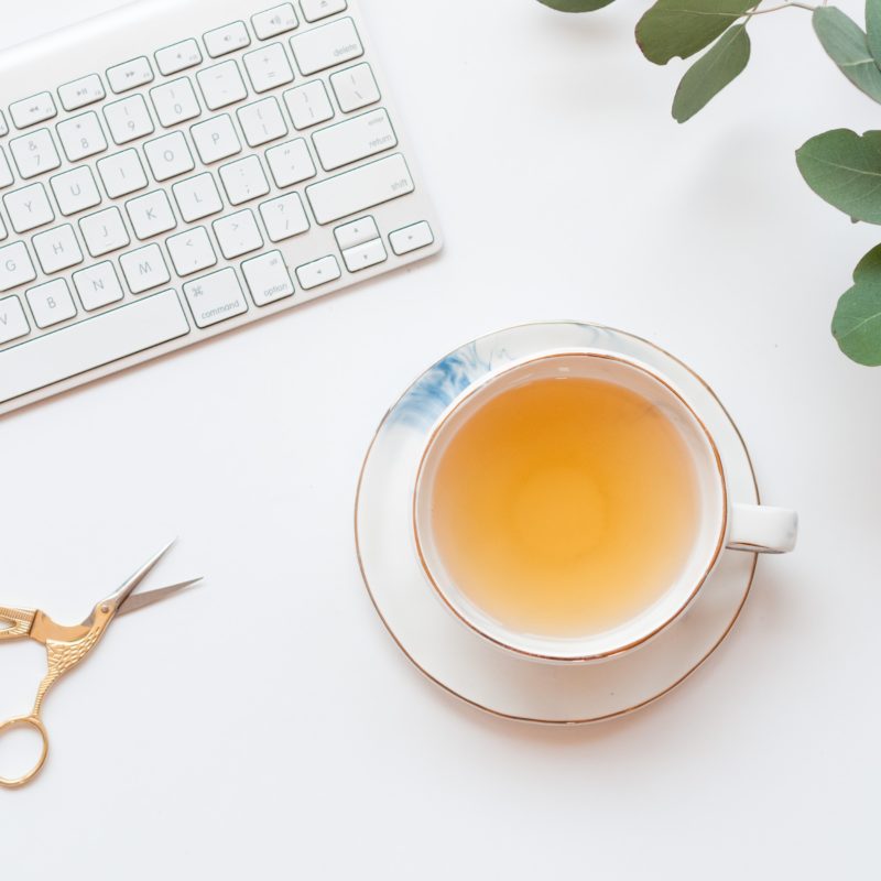
[[[24,776],[8,780],[0,776],[0,787],[17,788],[30,783],[42,770],[48,755],[48,735],[41,717],[43,700],[47,692],[58,679],[78,666],[98,644],[108,626],[117,616],[128,614],[152,606],[159,600],[174,596],[187,587],[192,587],[202,578],[161,587],[146,594],[134,594],[135,588],[146,578],[151,569],[168,552],[166,545],[134,573],[117,591],[102,599],[83,623],[73,627],[56,624],[45,612],[39,609],[8,609],[0,606],[0,643],[8,640],[30,639],[46,646],[46,665],[48,671],[40,683],[36,700],[30,716],[20,716],[0,725],[0,736],[13,728],[32,728],[43,740],[43,751],[36,765]]]

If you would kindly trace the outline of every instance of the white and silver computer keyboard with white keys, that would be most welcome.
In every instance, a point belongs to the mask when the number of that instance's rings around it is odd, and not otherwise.
[[[135,3],[0,109],[0,414],[440,247],[354,0]]]

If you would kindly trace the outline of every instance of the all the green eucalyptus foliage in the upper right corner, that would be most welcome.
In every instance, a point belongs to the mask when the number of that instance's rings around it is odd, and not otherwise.
[[[769,0],[771,1],[771,0]],[[595,12],[614,0],[540,0],[562,12]],[[686,122],[727,88],[750,61],[749,23],[755,15],[809,12],[826,54],[850,83],[881,105],[881,0],[866,0],[864,29],[835,0],[652,0],[637,24],[637,43],[653,64],[693,58],[673,99],[673,118]],[[836,129],[797,152],[798,171],[823,199],[851,218],[881,226],[881,130],[862,135]],[[852,286],[833,319],[841,350],[861,365],[881,367],[881,244],[860,261]]]

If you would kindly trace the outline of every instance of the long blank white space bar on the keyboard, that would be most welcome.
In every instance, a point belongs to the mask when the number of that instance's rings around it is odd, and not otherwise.
[[[189,333],[174,291],[0,351],[0,404]]]

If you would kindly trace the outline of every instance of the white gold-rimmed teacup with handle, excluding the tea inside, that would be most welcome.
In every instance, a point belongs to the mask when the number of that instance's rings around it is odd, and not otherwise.
[[[555,377],[622,385],[656,406],[678,429],[697,475],[699,518],[685,565],[659,599],[613,629],[583,637],[512,630],[476,605],[455,583],[433,534],[432,488],[448,444],[493,396],[514,387]],[[726,548],[782,554],[797,534],[795,512],[731,502],[716,443],[697,409],[657,371],[637,360],[601,351],[548,352],[515,363],[466,390],[439,416],[425,446],[413,494],[413,525],[422,565],[440,599],[468,627],[520,655],[552,662],[599,661],[641,645],[678,618],[719,564]]]

